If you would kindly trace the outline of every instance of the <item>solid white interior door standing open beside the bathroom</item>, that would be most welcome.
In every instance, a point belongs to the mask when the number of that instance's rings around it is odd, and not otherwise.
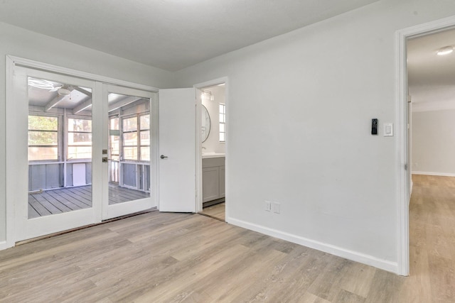
[[[160,211],[196,212],[195,121],[195,89],[160,89]]]

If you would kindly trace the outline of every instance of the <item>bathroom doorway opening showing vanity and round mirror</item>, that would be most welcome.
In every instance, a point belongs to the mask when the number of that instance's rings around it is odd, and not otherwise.
[[[198,213],[226,221],[226,81],[196,86]]]

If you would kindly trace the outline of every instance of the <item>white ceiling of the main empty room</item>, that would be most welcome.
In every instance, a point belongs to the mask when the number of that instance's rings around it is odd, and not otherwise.
[[[378,0],[1,0],[0,21],[176,71]]]

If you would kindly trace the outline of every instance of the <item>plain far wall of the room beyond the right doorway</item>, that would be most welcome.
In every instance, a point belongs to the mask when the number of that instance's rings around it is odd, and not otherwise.
[[[455,176],[455,109],[412,113],[412,172]]]

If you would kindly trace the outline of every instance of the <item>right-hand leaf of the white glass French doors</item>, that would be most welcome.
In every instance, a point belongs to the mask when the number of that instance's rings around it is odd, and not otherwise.
[[[151,180],[151,110],[154,94],[108,87],[107,214],[122,216],[154,205]],[[156,171],[156,170],[155,170]]]

